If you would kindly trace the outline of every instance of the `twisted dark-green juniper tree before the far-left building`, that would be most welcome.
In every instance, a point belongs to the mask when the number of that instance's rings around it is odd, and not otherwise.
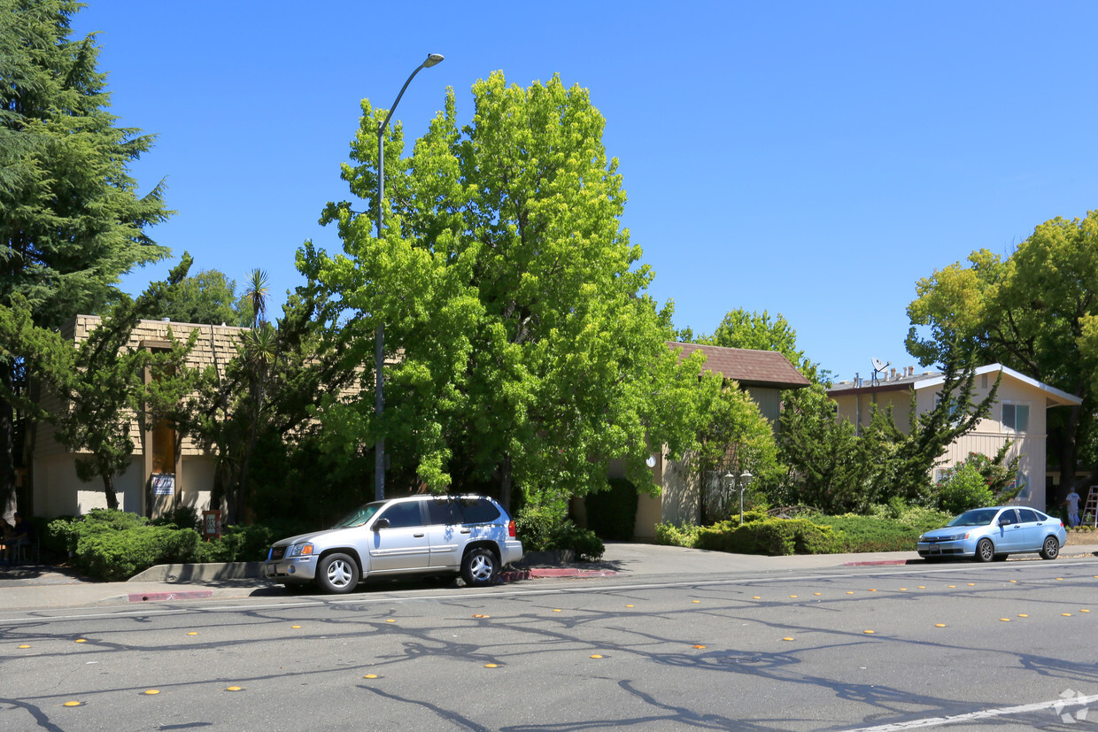
[[[14,307],[0,305],[0,340],[22,354],[31,378],[58,399],[60,408],[45,412],[34,403],[21,406],[52,423],[58,441],[79,453],[77,476],[102,481],[108,508],[119,507],[114,477],[133,458],[131,426],[136,421],[144,428],[172,419],[179,397],[198,385],[197,374],[184,365],[198,331],[186,342],[172,338],[171,348],[163,353],[131,345],[137,322],[155,312],[189,267],[190,257],[184,255],[166,282],[153,283],[136,300],[120,295],[111,315],[79,344],[35,326],[22,295],[14,296]],[[154,378],[150,388],[145,385],[146,369]],[[19,401],[13,393],[4,396]]]

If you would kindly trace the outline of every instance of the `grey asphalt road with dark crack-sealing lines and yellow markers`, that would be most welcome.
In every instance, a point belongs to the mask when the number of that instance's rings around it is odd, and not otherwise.
[[[1091,560],[4,613],[0,729],[1067,729],[1096,623]]]

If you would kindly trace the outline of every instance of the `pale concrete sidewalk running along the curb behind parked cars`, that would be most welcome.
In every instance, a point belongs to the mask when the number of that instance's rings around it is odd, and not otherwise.
[[[1063,559],[1094,556],[1098,547],[1065,547]],[[1024,561],[1029,555],[1019,558]],[[1057,560],[1058,561],[1058,560]],[[923,564],[916,552],[759,556],[681,547],[607,543],[601,562],[569,566],[534,565],[505,573],[505,582],[552,577],[629,576],[650,579],[684,574],[736,574],[820,570],[840,566]],[[262,577],[261,563],[159,565],[130,582],[89,581],[49,566],[0,568],[0,619],[10,610],[54,609],[191,599],[284,597],[285,589]]]

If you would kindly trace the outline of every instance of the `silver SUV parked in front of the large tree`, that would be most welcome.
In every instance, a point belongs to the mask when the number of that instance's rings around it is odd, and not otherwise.
[[[482,587],[522,556],[515,522],[493,499],[410,496],[366,504],[330,529],[274,542],[267,578],[290,589],[315,582],[327,593],[349,593],[368,576],[460,573]]]

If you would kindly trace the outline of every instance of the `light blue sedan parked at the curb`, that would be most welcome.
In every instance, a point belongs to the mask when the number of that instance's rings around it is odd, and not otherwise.
[[[1067,541],[1067,530],[1052,518],[1026,506],[974,508],[961,514],[944,528],[919,537],[919,556],[972,556],[978,562],[1005,560],[1008,554],[1040,552],[1054,560]]]

